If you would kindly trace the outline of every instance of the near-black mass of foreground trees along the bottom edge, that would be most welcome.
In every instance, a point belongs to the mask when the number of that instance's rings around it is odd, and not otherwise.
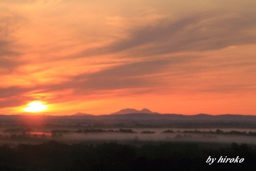
[[[243,163],[205,163],[208,156],[245,158]],[[48,142],[0,146],[0,170],[254,170],[256,149],[246,144],[202,148],[191,143],[96,145]]]

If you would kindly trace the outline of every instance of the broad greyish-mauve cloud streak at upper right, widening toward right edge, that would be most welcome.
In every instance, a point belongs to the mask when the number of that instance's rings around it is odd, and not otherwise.
[[[136,28],[127,39],[101,48],[87,49],[64,58],[127,51],[130,57],[168,54],[180,51],[206,51],[256,42],[256,17],[253,12],[208,12],[155,25]]]

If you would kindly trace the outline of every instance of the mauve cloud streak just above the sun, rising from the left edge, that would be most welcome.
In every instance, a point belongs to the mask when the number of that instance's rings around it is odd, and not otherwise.
[[[188,57],[191,60],[193,57]],[[58,84],[37,85],[31,88],[9,87],[0,88],[0,99],[24,96],[26,93],[37,91],[37,93],[74,90],[75,94],[97,94],[113,90],[155,88],[162,83],[160,74],[170,70],[170,66],[182,63],[182,57],[173,57],[172,60],[151,60],[127,63],[105,69],[95,73],[84,73],[69,78],[66,82]],[[132,92],[131,92],[132,93]],[[139,93],[139,92],[135,92]]]

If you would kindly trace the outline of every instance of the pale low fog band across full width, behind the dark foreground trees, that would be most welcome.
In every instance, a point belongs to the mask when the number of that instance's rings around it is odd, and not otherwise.
[[[100,129],[113,130],[119,129]],[[123,132],[82,132],[77,133],[77,130],[68,130],[67,133],[52,134],[45,130],[33,130],[23,133],[6,133],[1,130],[0,142],[12,143],[39,143],[49,140],[61,141],[66,143],[82,143],[93,141],[184,141],[184,142],[219,142],[219,143],[248,143],[256,144],[256,136],[250,135],[223,135],[223,134],[209,134],[202,132],[215,132],[217,129],[197,129],[201,133],[184,133],[183,131],[195,131],[196,129],[170,129],[170,128],[132,128],[133,132],[137,133],[123,133]],[[162,133],[166,130],[172,130],[173,133]],[[223,132],[238,131],[238,132],[252,132],[255,129],[220,129]],[[148,133],[155,132],[155,133]],[[142,134],[142,132],[147,132]],[[256,134],[256,133],[255,133]]]

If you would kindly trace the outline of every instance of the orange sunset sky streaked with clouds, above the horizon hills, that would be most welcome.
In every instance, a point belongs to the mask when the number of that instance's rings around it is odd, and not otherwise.
[[[27,114],[39,101],[47,115],[256,115],[255,7],[0,0],[0,114]]]

